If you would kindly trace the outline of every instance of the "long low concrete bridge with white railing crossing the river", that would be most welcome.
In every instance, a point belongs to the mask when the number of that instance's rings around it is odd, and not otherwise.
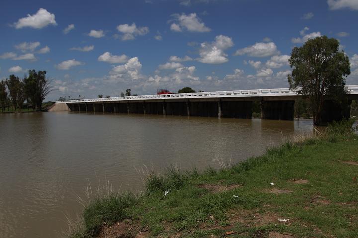
[[[358,85],[346,86],[346,91],[348,102],[345,105],[335,104],[329,99],[325,101],[322,121],[330,122],[350,116],[351,100],[358,99]],[[294,103],[299,98],[301,95],[289,88],[233,90],[57,101],[49,111],[63,111],[66,108],[74,112],[251,119],[253,102],[258,101],[261,119],[293,120]]]

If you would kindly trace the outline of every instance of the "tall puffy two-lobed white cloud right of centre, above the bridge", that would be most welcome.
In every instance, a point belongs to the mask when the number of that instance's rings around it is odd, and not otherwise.
[[[234,43],[230,37],[223,35],[216,36],[215,41],[212,43],[201,43],[198,61],[209,64],[226,63],[229,59],[224,51],[233,45]]]

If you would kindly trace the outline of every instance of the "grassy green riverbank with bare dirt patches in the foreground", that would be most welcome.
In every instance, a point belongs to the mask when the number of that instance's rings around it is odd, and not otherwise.
[[[148,172],[140,195],[88,192],[66,236],[355,238],[357,177],[358,136],[345,121],[221,170]]]

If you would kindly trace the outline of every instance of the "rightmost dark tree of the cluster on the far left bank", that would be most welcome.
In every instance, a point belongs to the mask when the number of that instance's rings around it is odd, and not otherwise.
[[[28,77],[24,78],[25,93],[28,95],[32,107],[42,110],[42,102],[52,91],[51,81],[46,78],[46,71],[29,70]]]

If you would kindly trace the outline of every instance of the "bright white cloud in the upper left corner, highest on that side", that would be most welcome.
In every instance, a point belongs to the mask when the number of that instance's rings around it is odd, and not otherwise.
[[[27,17],[20,18],[16,23],[14,23],[16,29],[23,27],[41,29],[50,24],[57,25],[55,15],[43,8],[40,8],[36,14],[28,14]]]

